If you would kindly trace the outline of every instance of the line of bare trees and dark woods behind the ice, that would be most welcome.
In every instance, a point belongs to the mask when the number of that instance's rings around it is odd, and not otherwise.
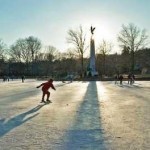
[[[113,43],[103,39],[96,47],[96,69],[99,75],[112,76],[123,73],[148,73],[150,70],[150,48],[145,29],[133,23],[122,25],[117,35],[120,53],[110,53]],[[61,52],[55,46],[43,46],[34,36],[18,39],[7,47],[0,40],[0,76],[55,76],[61,78],[67,74],[86,76],[89,50],[83,27],[69,29],[66,41],[69,49]]]

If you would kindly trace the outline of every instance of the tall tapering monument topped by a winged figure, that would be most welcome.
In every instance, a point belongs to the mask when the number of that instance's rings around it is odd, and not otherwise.
[[[93,37],[94,30],[95,30],[95,27],[93,28],[91,26],[90,62],[89,62],[89,67],[88,67],[88,71],[91,76],[98,75],[98,72],[96,71],[96,68],[95,68],[95,42],[94,42],[94,37]]]

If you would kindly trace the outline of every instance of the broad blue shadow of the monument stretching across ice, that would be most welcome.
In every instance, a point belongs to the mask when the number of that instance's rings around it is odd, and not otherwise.
[[[96,82],[89,82],[84,99],[77,110],[73,126],[64,135],[61,150],[106,150],[101,127]]]

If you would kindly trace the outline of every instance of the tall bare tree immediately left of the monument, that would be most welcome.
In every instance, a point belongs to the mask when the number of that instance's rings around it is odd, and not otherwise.
[[[68,31],[67,42],[74,45],[75,53],[77,53],[81,58],[81,71],[83,73],[83,55],[87,49],[87,46],[86,35],[83,32],[82,26],[80,26],[78,30],[70,29]]]

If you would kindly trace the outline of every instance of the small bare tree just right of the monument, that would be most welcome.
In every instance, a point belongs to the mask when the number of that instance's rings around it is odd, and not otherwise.
[[[106,41],[106,40],[103,40],[100,44],[99,44],[99,47],[98,47],[98,51],[100,54],[102,54],[103,56],[103,73],[105,74],[106,73],[106,55],[108,55],[112,50],[112,43]]]

